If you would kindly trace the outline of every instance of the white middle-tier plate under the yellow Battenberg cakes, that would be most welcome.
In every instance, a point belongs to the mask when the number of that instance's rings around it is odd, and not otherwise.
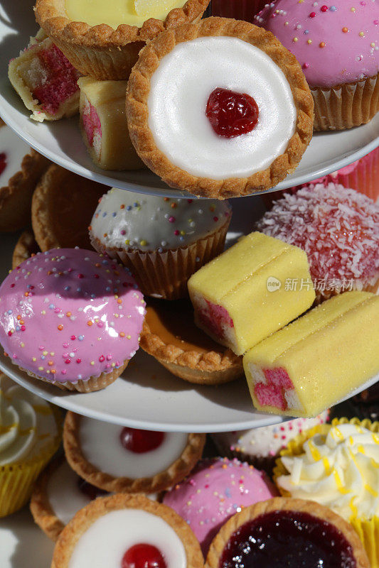
[[[250,197],[249,200],[257,202],[255,211],[260,209],[259,198]],[[237,200],[237,203],[242,205],[245,201]],[[234,212],[234,222],[237,217],[246,219],[238,209]],[[235,236],[236,233],[231,232],[229,241],[233,241]],[[0,281],[11,266],[15,244],[16,236],[0,234]],[[167,432],[223,432],[287,420],[285,417],[255,412],[245,378],[220,386],[196,386],[171,375],[142,349],[130,361],[121,378],[104,391],[89,394],[60,391],[48,383],[31,378],[11,364],[4,354],[0,355],[0,369],[51,403],[97,420],[129,427]],[[378,380],[379,375],[350,396]]]

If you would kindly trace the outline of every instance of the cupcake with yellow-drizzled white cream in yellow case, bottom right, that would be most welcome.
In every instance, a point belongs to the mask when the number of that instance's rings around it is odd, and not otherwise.
[[[305,455],[311,477],[301,481],[301,466],[307,467]],[[327,504],[343,515],[358,533],[371,568],[378,568],[379,422],[335,418],[331,425],[316,426],[298,435],[280,456],[274,481],[281,493],[296,497],[305,491],[312,500]],[[294,477],[294,473],[289,476],[287,466],[292,469],[295,458]],[[288,479],[297,479],[298,484],[289,488]]]

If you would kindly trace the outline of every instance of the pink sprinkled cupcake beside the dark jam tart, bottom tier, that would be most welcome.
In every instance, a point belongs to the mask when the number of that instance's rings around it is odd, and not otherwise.
[[[204,556],[220,527],[242,508],[276,496],[269,479],[237,459],[203,459],[191,476],[164,496],[164,503],[186,520]]]

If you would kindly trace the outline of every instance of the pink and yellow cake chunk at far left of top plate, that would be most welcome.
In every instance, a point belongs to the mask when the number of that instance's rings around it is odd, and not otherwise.
[[[42,30],[18,58],[11,59],[8,75],[23,104],[32,111],[31,119],[58,120],[79,111],[80,73]]]

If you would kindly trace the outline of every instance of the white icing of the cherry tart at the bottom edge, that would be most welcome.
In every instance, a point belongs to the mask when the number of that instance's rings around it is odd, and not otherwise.
[[[167,568],[186,568],[186,551],[174,529],[138,509],[113,510],[95,520],[75,545],[68,568],[120,568],[125,552],[142,542],[160,550]]]

